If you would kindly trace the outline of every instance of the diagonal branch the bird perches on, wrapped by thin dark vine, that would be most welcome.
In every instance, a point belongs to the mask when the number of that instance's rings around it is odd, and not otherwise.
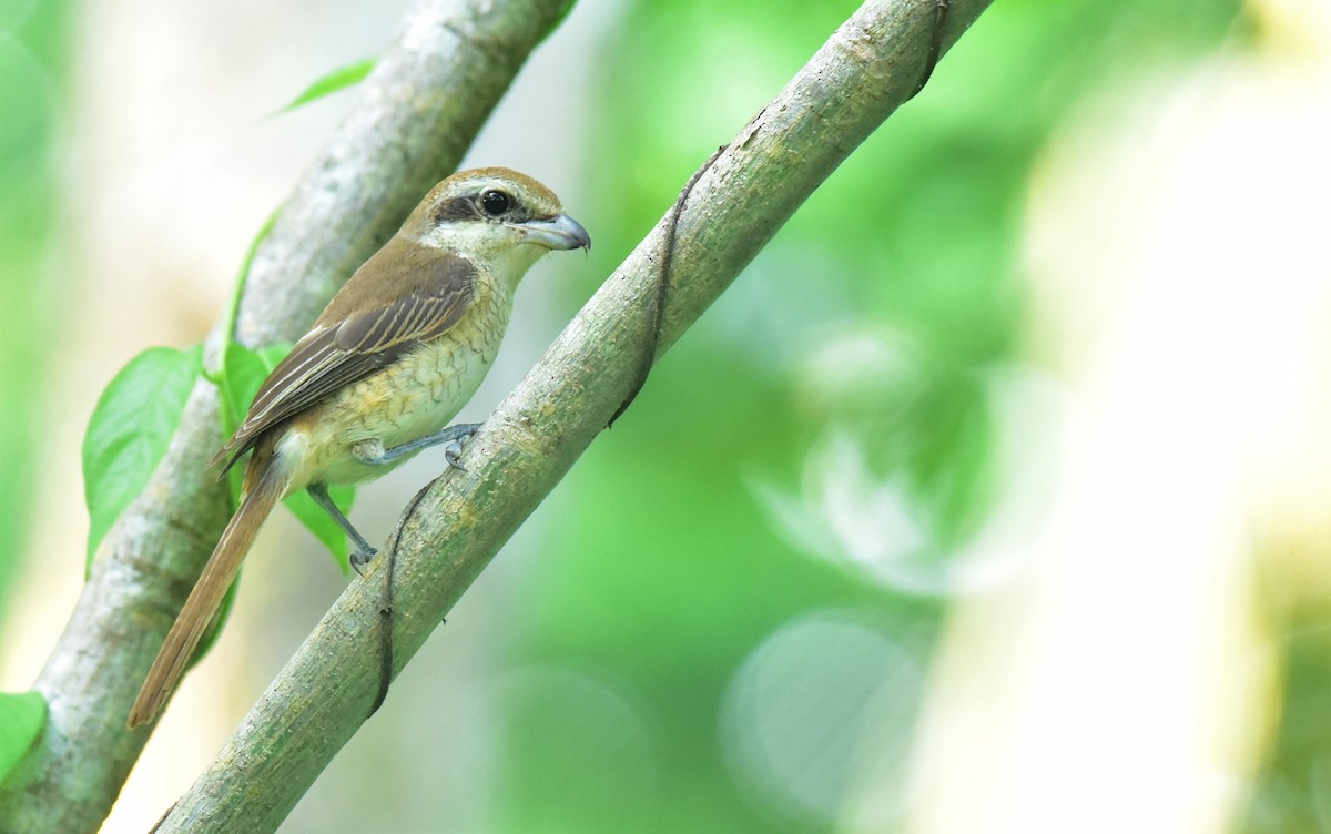
[[[952,0],[941,48],[989,0]],[[697,180],[675,227],[664,352],[795,209],[909,98],[929,67],[936,0],[868,0]],[[886,209],[886,208],[885,208]],[[245,717],[161,831],[273,831],[370,714],[379,629],[394,670],[540,503],[632,390],[651,343],[659,222],[414,500],[395,544],[354,581]],[[381,619],[390,599],[393,609]]]

